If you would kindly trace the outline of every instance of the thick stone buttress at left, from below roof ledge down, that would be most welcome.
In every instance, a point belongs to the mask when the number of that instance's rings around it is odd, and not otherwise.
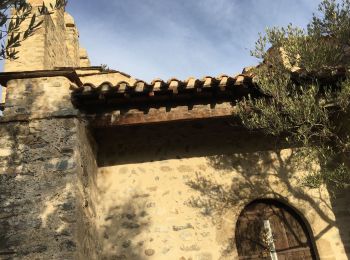
[[[0,258],[98,259],[93,139],[64,77],[11,80],[0,121]]]

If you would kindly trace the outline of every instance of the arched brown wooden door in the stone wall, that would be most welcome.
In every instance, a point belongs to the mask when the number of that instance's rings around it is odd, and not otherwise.
[[[238,218],[235,238],[239,259],[316,259],[305,222],[275,200],[249,204]]]

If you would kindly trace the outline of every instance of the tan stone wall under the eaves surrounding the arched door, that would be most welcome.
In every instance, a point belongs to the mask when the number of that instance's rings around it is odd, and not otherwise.
[[[300,213],[320,259],[347,259],[346,193],[331,199],[325,187],[302,188],[305,169],[274,139],[223,120],[98,129],[95,136],[104,259],[237,259],[237,218],[262,198]]]

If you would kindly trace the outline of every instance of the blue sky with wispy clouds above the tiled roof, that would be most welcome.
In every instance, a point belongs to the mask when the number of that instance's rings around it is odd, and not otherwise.
[[[70,0],[93,65],[150,81],[233,75],[258,33],[292,22],[305,27],[320,0]],[[1,69],[1,65],[0,65]]]

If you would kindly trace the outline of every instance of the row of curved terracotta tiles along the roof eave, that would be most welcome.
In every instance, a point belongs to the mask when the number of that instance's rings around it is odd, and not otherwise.
[[[85,82],[73,91],[74,104],[84,111],[114,111],[137,108],[159,109],[165,107],[171,111],[175,107],[186,106],[189,110],[195,105],[209,105],[235,102],[243,96],[261,95],[251,76],[239,74],[236,77],[219,75],[202,79],[190,77],[186,80],[170,78],[167,81],[154,79],[151,83],[142,80],[119,81],[112,84],[106,81],[99,85]]]

